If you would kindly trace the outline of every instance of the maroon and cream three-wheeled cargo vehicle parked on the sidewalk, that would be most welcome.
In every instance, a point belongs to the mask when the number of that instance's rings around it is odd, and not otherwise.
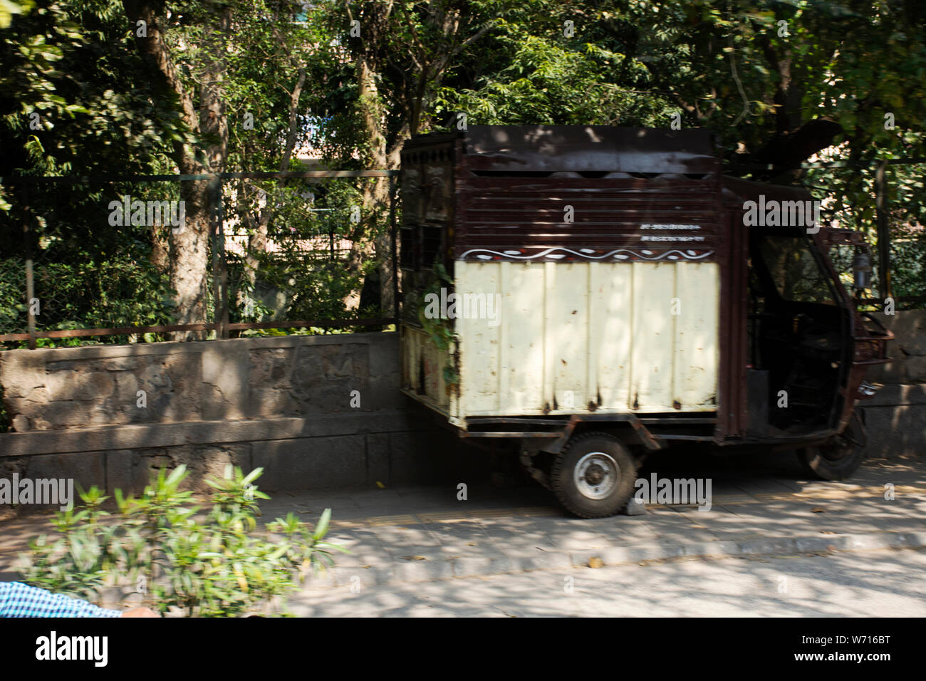
[[[891,334],[857,311],[806,190],[722,175],[706,131],[469,126],[402,151],[403,390],[510,438],[565,508],[623,510],[680,442],[864,457]]]

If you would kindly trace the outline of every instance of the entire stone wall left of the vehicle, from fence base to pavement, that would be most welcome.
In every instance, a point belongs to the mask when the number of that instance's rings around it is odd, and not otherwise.
[[[184,463],[199,487],[233,463],[286,491],[488,474],[399,371],[394,333],[3,352],[0,477],[140,491],[153,468]]]

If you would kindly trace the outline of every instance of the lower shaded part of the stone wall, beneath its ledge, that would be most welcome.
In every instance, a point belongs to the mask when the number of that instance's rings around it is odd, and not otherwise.
[[[0,477],[9,479],[18,473],[20,479],[70,478],[84,489],[98,486],[111,494],[118,487],[138,494],[158,470],[170,471],[184,464],[190,473],[185,483],[188,488],[207,491],[206,479],[220,477],[232,464],[245,472],[264,469],[257,485],[282,493],[378,484],[456,484],[485,479],[491,472],[488,454],[423,419],[412,427],[415,419],[396,410],[381,419],[379,426],[392,430],[364,432],[360,422],[366,418],[355,415],[342,419],[338,423],[342,435],[163,447],[145,447],[141,442],[144,438],[139,438],[140,443],[132,448],[105,450],[100,449],[94,432],[74,430],[69,431],[67,453],[0,456]],[[274,423],[270,425],[272,431]]]

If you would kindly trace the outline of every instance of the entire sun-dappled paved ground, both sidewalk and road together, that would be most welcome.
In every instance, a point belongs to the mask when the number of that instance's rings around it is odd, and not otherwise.
[[[476,484],[466,500],[446,484],[261,508],[308,522],[332,508],[328,538],[352,551],[291,599],[301,615],[926,616],[926,460],[867,461],[842,483],[807,480],[791,456],[663,458],[641,473],[711,479],[710,511],[657,503],[589,521],[539,486]],[[16,578],[46,518],[0,523],[0,578]]]

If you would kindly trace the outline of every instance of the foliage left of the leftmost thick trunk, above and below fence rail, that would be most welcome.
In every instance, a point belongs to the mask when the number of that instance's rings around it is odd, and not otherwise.
[[[118,0],[40,0],[0,29],[0,36],[0,176],[169,170],[164,158],[170,141],[186,134],[178,103],[138,77],[143,63]],[[107,220],[106,206],[120,192],[147,197],[170,188],[2,188],[0,333],[26,330],[27,223],[34,236],[40,330],[169,322],[171,292],[151,257],[150,234]],[[68,339],[42,345],[97,342]]]

